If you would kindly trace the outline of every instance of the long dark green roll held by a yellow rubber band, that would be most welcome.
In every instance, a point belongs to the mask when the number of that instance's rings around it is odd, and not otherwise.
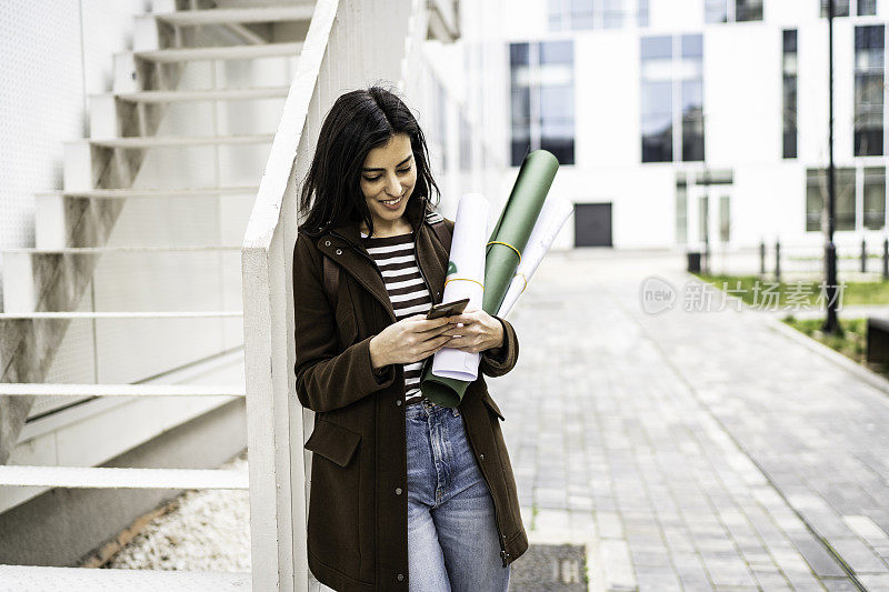
[[[516,183],[491,232],[485,255],[485,295],[481,308],[488,314],[497,314],[500,310],[519,265],[519,253],[528,244],[528,238],[558,169],[559,161],[546,150],[529,153],[519,168]],[[467,387],[467,381],[432,374],[431,357],[427,359],[420,379],[420,390],[427,399],[443,407],[457,407],[463,399]]]

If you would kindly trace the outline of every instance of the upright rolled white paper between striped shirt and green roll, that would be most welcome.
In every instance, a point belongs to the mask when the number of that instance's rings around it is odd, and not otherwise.
[[[469,299],[467,309],[480,309],[485,285],[485,249],[490,203],[481,193],[465,193],[457,205],[448,275],[442,302]],[[481,354],[443,348],[432,357],[432,374],[472,382]]]

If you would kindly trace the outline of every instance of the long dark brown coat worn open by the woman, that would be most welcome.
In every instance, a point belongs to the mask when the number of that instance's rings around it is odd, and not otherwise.
[[[418,265],[434,302],[448,252],[429,222],[411,217]],[[446,220],[450,231],[453,222]],[[337,311],[322,283],[322,253],[341,265]],[[399,364],[376,378],[370,339],[396,317],[386,284],[357,224],[323,233],[302,231],[293,248],[297,397],[316,411],[306,442],[313,452],[308,518],[309,568],[338,591],[408,590],[407,441],[404,377]],[[479,378],[459,405],[472,453],[497,513],[503,566],[528,549],[503,415],[482,374],[499,377],[516,365],[519,342],[505,327],[502,358],[482,352]]]

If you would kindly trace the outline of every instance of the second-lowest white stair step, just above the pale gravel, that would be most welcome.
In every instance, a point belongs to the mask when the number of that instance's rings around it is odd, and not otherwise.
[[[240,489],[248,471],[233,469],[129,469],[0,465],[0,485],[84,489]]]

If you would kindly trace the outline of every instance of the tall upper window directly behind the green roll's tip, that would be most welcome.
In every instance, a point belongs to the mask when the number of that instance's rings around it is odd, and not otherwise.
[[[511,163],[529,150],[552,152],[559,163],[575,163],[573,43],[511,43]]]

